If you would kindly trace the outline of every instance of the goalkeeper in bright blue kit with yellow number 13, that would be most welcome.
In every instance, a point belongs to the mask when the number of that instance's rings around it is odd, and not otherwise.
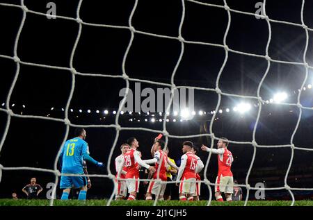
[[[97,162],[89,155],[88,144],[85,142],[86,130],[76,128],[76,137],[67,140],[60,155],[62,161],[62,174],[84,174],[83,160],[103,167],[102,162]],[[72,187],[79,188],[79,200],[86,200],[87,196],[86,176],[61,176],[60,188],[63,189],[62,200],[67,200]]]

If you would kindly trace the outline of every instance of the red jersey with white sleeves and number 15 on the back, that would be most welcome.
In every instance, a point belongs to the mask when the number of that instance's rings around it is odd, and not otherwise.
[[[179,171],[177,174],[177,180],[189,179],[189,178],[196,178],[195,176],[195,169],[197,167],[198,158],[192,152],[187,152],[182,155],[181,159],[181,166],[179,167]]]

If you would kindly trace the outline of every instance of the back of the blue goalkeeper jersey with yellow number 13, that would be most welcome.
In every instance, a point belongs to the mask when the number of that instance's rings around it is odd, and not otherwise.
[[[83,153],[88,153],[88,144],[75,137],[67,140],[63,146],[62,173],[83,174]]]

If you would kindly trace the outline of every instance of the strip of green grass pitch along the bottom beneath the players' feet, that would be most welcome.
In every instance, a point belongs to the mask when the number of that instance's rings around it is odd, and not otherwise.
[[[49,200],[26,200],[26,199],[0,199],[0,206],[48,206]],[[54,205],[56,206],[104,206],[107,200],[87,200],[77,201],[68,200],[60,201],[55,200]],[[153,201],[112,201],[113,206],[152,206]],[[207,201],[193,201],[193,202],[182,202],[182,201],[159,201],[158,206],[205,206]],[[220,203],[217,201],[211,202],[212,206],[243,206],[244,201],[232,201],[231,203]],[[248,201],[248,206],[289,206],[291,201]],[[295,201],[295,206],[313,206],[313,201]]]

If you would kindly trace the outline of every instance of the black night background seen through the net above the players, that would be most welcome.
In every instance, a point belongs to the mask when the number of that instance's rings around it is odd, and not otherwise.
[[[19,3],[19,1],[0,0],[1,3]],[[49,1],[24,1],[30,9],[46,12]],[[78,1],[54,1],[57,15],[76,17]],[[223,5],[223,1],[207,0],[207,3]],[[227,4],[235,10],[255,12],[255,0],[229,0]],[[283,2],[283,3],[282,3]],[[306,1],[304,10],[305,24],[313,28],[313,2]],[[134,1],[83,1],[80,17],[83,22],[96,24],[110,24],[128,26],[129,14]],[[188,41],[209,42],[223,44],[223,35],[227,26],[227,12],[221,8],[200,6],[185,1],[186,15],[182,27],[182,36]],[[266,13],[271,19],[279,19],[300,24],[301,1],[267,1]],[[138,1],[134,12],[132,25],[137,31],[145,31],[160,35],[178,36],[179,22],[182,16],[182,3],[179,0]],[[268,39],[268,26],[264,19],[255,19],[253,16],[231,13],[232,22],[227,35],[227,45],[234,50],[247,53],[265,55]],[[13,56],[15,36],[22,19],[22,10],[0,6],[0,54]],[[35,62],[45,65],[70,67],[70,55],[77,37],[79,25],[77,22],[65,19],[47,19],[45,16],[27,13],[26,22],[19,38],[17,54],[24,62]],[[305,49],[305,31],[301,27],[286,24],[271,23],[272,40],[269,47],[269,56],[275,60],[303,62]],[[309,33],[310,44],[307,51],[307,62],[313,65],[313,32]],[[74,55],[74,68],[82,73],[90,74],[122,74],[122,59],[129,44],[130,31],[118,28],[103,28],[83,25],[79,44]],[[129,77],[149,81],[170,83],[170,76],[177,63],[180,53],[180,42],[159,37],[135,34],[127,56],[125,68]],[[216,77],[220,70],[225,51],[220,47],[204,46],[199,44],[185,44],[184,56],[175,74],[176,85],[214,88]],[[257,87],[266,71],[267,62],[262,58],[243,56],[229,53],[227,64],[220,77],[219,86],[223,92],[241,95],[257,95]],[[16,65],[13,60],[0,58],[0,104],[6,101],[10,85],[15,76]],[[296,103],[298,89],[305,78],[305,68],[299,65],[278,64],[271,62],[261,89],[261,96],[270,99],[275,92],[284,90],[289,94],[288,102]],[[71,89],[72,76],[70,71],[47,69],[21,65],[19,78],[15,85],[10,104],[15,103],[13,111],[23,115],[42,115],[64,118],[64,112]],[[91,76],[76,76],[75,90],[70,108],[70,121],[73,124],[113,124],[114,116],[96,114],[95,110],[108,109],[110,112],[118,109],[121,97],[120,89],[125,87],[125,81],[120,78],[102,78]],[[309,73],[307,84],[312,83],[312,70]],[[130,82],[134,88],[134,81]],[[142,83],[141,87],[156,85]],[[195,91],[195,110],[214,110],[218,96],[214,92]],[[221,108],[231,108],[241,99],[222,96]],[[249,101],[248,99],[246,101]],[[252,101],[252,100],[250,100]],[[307,90],[301,96],[301,103],[312,107],[312,93]],[[22,105],[26,108],[22,108]],[[50,110],[51,107],[55,109]],[[0,106],[0,108],[5,108]],[[84,113],[79,113],[82,109]],[[88,114],[86,110],[93,110]],[[290,112],[290,111],[293,112]],[[271,115],[268,115],[271,112]],[[77,117],[78,116],[78,117]],[[252,128],[255,124],[257,108],[243,118],[232,112],[228,115],[218,115],[214,123],[214,133],[217,137],[225,136],[234,141],[251,141]],[[294,143],[299,147],[312,148],[312,112],[303,110],[300,127],[295,135]],[[106,117],[104,119],[104,117]],[[141,119],[141,122],[130,122],[130,118]],[[100,120],[101,118],[101,120]],[[143,123],[143,119],[150,119],[142,114],[120,117],[121,126],[145,127],[162,130],[162,123]],[[156,117],[159,119],[159,117]],[[173,119],[171,116],[170,119]],[[290,144],[291,134],[298,119],[298,108],[289,106],[263,105],[262,115],[257,128],[256,139],[258,144]],[[204,133],[203,127],[209,127],[211,115],[196,116],[192,121],[171,122],[167,130],[173,135],[195,135]],[[6,114],[0,111],[0,137],[6,126]],[[70,137],[72,137],[71,128]],[[90,155],[96,160],[107,164],[109,151],[115,138],[112,128],[88,128],[86,141],[90,145]],[[58,147],[63,141],[65,125],[60,122],[20,119],[13,117],[3,149],[0,152],[0,163],[4,167],[40,167],[53,169],[54,159]],[[157,134],[138,130],[122,131],[118,139],[118,146],[125,142],[127,137],[135,136],[141,144],[143,158],[150,158],[149,151],[152,140]],[[169,146],[172,158],[179,160],[181,144],[186,139],[170,139]],[[193,138],[195,144],[211,144],[210,139]],[[251,145],[231,144],[230,151],[236,156],[233,164],[235,178],[244,183],[246,172],[250,166],[253,148]],[[118,155],[115,149],[114,157]],[[284,185],[291,149],[258,149],[257,158],[250,176],[251,183],[259,178],[266,180],[268,187]],[[312,174],[312,152],[296,151],[290,176]],[[207,154],[200,153],[202,160],[207,160]],[[262,173],[263,167],[277,168],[278,173]],[[112,171],[113,171],[113,167]],[[217,160],[211,158],[209,180],[216,177]],[[91,174],[106,174],[90,166]],[[21,189],[28,183],[31,176],[38,176],[40,183],[45,185],[54,181],[54,176],[31,171],[3,171],[0,196],[10,196],[11,192]],[[271,180],[271,177],[276,180]],[[90,194],[108,196],[110,180],[97,178]],[[309,178],[290,178],[289,185],[298,187],[312,187],[312,176]],[[205,193],[204,193],[205,195]],[[205,196],[204,196],[205,197]]]

